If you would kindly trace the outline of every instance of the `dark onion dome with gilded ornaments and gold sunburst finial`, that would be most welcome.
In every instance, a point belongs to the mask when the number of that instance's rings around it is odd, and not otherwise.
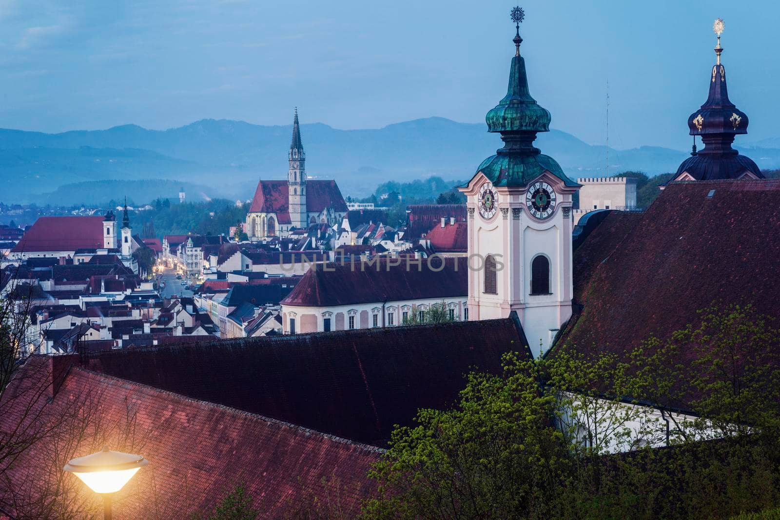
[[[701,136],[704,149],[697,152],[694,148],[693,154],[677,169],[673,180],[739,179],[745,175],[763,179],[756,163],[745,155],[739,155],[739,151],[731,147],[736,135],[747,134],[748,118],[745,112],[737,109],[729,100],[725,67],[721,63],[723,48],[720,33],[716,34],[717,58],[708,76],[710,93],[704,105],[688,117],[690,135]]]

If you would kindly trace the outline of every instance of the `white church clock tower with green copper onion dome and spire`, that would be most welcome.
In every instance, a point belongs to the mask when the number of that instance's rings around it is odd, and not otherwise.
[[[550,112],[528,90],[520,55],[523,9],[512,9],[515,56],[505,97],[485,117],[504,147],[459,190],[469,214],[470,319],[514,311],[534,356],[546,352],[572,315],[572,197],[580,185],[534,148]]]

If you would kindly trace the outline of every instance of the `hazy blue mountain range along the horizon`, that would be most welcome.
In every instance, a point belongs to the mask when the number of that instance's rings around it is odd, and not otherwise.
[[[78,189],[88,197],[87,181],[104,181],[105,188],[110,180],[197,183],[197,197],[249,198],[258,178],[285,178],[290,134],[291,126],[225,119],[203,119],[170,130],[135,125],[62,134],[0,130],[0,201],[62,203],[70,189],[53,193],[59,187],[81,183]],[[373,192],[386,180],[470,178],[480,161],[502,144],[483,123],[438,117],[378,130],[337,130],[314,123],[303,125],[301,134],[309,175],[333,178],[343,194],[357,196]],[[605,146],[560,130],[539,134],[536,144],[575,178],[605,175],[607,162],[610,174],[629,169],[665,173],[675,171],[687,156],[651,146],[610,148],[607,154]],[[780,138],[757,141],[743,151],[761,168],[780,167]],[[144,184],[136,187],[144,189]]]

